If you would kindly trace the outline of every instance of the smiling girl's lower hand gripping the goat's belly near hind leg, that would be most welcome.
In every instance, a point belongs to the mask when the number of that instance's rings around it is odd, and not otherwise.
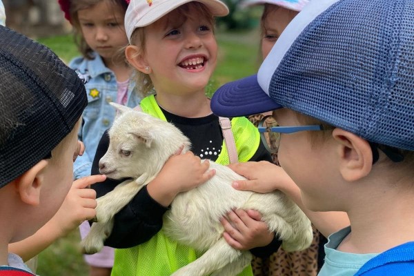
[[[227,213],[228,219],[222,218],[226,232],[224,239],[233,248],[250,250],[256,247],[267,246],[273,241],[275,233],[270,233],[266,223],[261,221],[262,215],[256,210],[234,210]]]

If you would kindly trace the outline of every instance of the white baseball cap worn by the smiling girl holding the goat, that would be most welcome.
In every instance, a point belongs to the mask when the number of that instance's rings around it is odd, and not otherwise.
[[[194,0],[131,0],[125,14],[125,30],[130,41],[132,32],[136,28],[154,23],[168,12]],[[225,3],[219,0],[197,0],[203,3],[215,17],[224,17],[228,14]]]

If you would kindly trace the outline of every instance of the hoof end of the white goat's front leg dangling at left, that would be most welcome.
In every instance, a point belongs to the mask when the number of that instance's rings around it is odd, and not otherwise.
[[[103,241],[107,239],[112,232],[114,219],[106,222],[94,222],[90,227],[88,235],[81,241],[83,254],[95,254],[102,250]]]

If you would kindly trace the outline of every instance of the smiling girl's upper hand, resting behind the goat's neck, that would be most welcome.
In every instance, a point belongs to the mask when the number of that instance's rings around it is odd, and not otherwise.
[[[215,170],[208,170],[208,160],[201,162],[193,152],[181,154],[181,150],[166,161],[157,177],[147,185],[148,194],[162,206],[169,206],[176,195],[203,184],[215,175]]]

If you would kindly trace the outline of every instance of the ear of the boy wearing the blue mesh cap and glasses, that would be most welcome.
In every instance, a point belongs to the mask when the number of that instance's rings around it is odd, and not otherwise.
[[[373,166],[373,152],[368,141],[361,137],[335,128],[333,138],[338,142],[339,170],[346,181],[357,181],[366,177]]]

